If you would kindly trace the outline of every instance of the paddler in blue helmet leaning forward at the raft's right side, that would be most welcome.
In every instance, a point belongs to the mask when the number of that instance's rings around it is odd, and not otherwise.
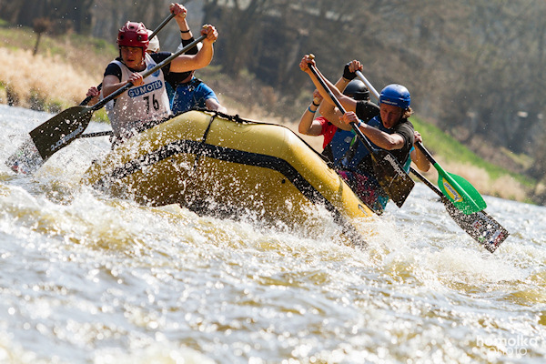
[[[310,56],[304,56],[299,64],[302,71],[308,74],[313,84],[319,91],[319,97],[313,100],[313,108],[309,106],[308,112],[314,114],[316,105],[326,100],[329,108],[335,106],[330,99],[328,92],[320,85],[319,80],[309,68],[309,64],[315,65],[315,60]],[[345,65],[343,76],[338,81],[338,86],[347,86],[356,77],[356,71],[362,70],[359,61],[352,61]],[[410,161],[410,151],[413,147],[415,132],[408,119],[412,114],[410,107],[410,92],[406,87],[400,85],[386,86],[379,96],[379,107],[369,99],[355,99],[343,95],[339,88],[332,85],[328,79],[325,82],[331,92],[339,99],[346,113],[341,115],[335,108],[330,118],[339,117],[338,129],[335,131],[326,150],[331,150],[334,167],[338,169],[339,175],[346,179],[359,197],[380,213],[384,209],[388,197],[379,187],[372,165],[369,151],[359,141],[352,131],[349,123],[354,122],[359,126],[362,133],[369,138],[374,147],[389,150],[399,160],[402,166]],[[341,88],[341,87],[340,87]],[[321,106],[321,109],[323,106]],[[417,158],[422,161],[424,158]],[[423,166],[424,167],[424,166]],[[428,168],[427,168],[428,169]]]

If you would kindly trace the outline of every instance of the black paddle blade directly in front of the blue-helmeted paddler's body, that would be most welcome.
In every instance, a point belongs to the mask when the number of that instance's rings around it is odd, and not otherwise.
[[[371,156],[375,160],[373,170],[379,185],[383,187],[396,206],[402,207],[410,195],[411,189],[415,186],[415,182],[388,151],[377,149]]]

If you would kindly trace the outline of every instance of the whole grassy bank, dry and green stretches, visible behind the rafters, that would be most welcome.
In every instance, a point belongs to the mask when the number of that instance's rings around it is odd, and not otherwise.
[[[10,28],[0,23],[0,62],[4,65],[0,68],[0,103],[58,113],[81,102],[88,87],[100,83],[107,63],[117,56],[114,45],[80,35],[42,36],[39,51],[33,56],[35,41],[31,29]],[[312,92],[303,90],[302,96],[290,100],[288,105],[272,87],[260,86],[249,75],[243,74],[237,80],[223,75],[214,62],[197,71],[197,76],[212,86],[230,114],[284,124],[294,131]],[[104,110],[94,116],[106,120]],[[486,162],[418,116],[412,122],[441,166],[468,179],[480,193],[531,201],[535,181]],[[304,139],[320,150],[321,137],[304,136]],[[426,176],[432,181],[438,179],[433,168]]]

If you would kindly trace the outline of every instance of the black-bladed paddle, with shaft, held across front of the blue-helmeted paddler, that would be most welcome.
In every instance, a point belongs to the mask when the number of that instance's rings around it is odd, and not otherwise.
[[[339,111],[345,114],[345,108],[341,106],[339,100],[334,96],[329,87],[326,85],[316,67],[308,65],[313,75],[317,77],[320,85],[326,90],[331,100],[338,106]],[[368,138],[360,131],[355,123],[350,123],[360,141],[369,151],[373,161],[373,170],[379,185],[383,187],[390,199],[398,206],[402,207],[406,198],[410,195],[411,189],[415,182],[404,171],[404,168],[399,164],[399,161],[393,157],[387,150],[376,149],[369,142]]]

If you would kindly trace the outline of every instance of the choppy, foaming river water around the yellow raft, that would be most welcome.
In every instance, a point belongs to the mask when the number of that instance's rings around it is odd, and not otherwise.
[[[83,187],[106,137],[13,174],[49,117],[0,106],[1,363],[544,360],[546,207],[485,197],[511,232],[490,254],[418,183],[353,248],[327,214],[299,234]]]

